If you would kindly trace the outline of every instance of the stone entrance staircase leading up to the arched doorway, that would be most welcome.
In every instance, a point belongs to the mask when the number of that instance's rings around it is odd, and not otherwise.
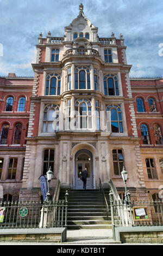
[[[64,199],[65,192],[60,190],[59,199]],[[111,228],[110,211],[107,218],[99,190],[68,190],[67,230]]]

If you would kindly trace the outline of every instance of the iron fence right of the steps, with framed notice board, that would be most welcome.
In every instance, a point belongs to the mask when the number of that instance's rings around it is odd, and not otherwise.
[[[109,198],[114,227],[163,225],[163,200],[115,200],[112,192]]]

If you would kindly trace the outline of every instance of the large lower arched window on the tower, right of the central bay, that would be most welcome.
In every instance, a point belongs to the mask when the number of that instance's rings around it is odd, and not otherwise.
[[[107,111],[110,111],[111,115],[107,115]],[[106,106],[106,127],[108,132],[110,131],[110,122],[112,133],[123,133],[122,112],[120,105]]]

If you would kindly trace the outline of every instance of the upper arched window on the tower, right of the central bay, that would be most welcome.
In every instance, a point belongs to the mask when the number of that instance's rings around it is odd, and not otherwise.
[[[118,80],[116,75],[104,76],[104,92],[106,96],[118,96]]]

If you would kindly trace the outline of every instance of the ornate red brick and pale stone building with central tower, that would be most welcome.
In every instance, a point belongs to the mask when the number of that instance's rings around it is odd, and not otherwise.
[[[34,78],[0,78],[0,185],[5,199],[41,197],[39,177],[53,170],[52,193],[111,179],[123,195],[122,167],[132,197],[157,198],[163,184],[163,79],[129,78],[123,35],[98,36],[79,15],[62,38],[36,45]],[[29,126],[28,126],[29,124]],[[28,129],[28,134],[27,134]]]

